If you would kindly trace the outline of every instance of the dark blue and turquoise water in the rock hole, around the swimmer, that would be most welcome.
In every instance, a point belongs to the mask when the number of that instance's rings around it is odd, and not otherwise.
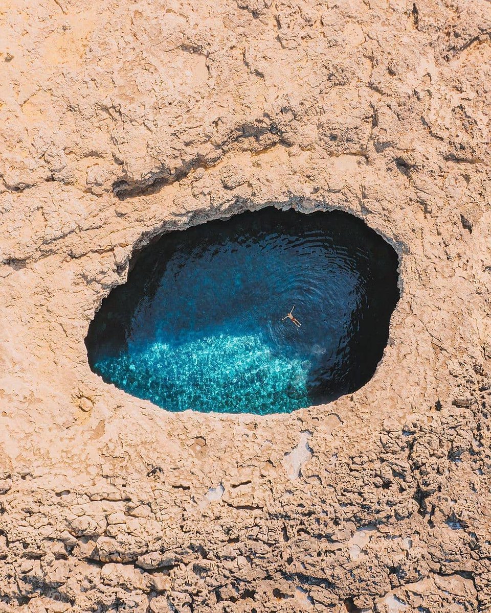
[[[347,213],[273,207],[171,232],[86,339],[93,371],[169,411],[285,413],[373,375],[399,298],[393,248]],[[301,327],[282,318],[293,315]]]

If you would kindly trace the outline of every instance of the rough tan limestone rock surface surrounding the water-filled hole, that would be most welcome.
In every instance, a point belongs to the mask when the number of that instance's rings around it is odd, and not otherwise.
[[[490,112],[487,0],[3,2],[0,611],[491,611]],[[171,414],[90,371],[134,248],[267,204],[398,249],[369,384]]]

